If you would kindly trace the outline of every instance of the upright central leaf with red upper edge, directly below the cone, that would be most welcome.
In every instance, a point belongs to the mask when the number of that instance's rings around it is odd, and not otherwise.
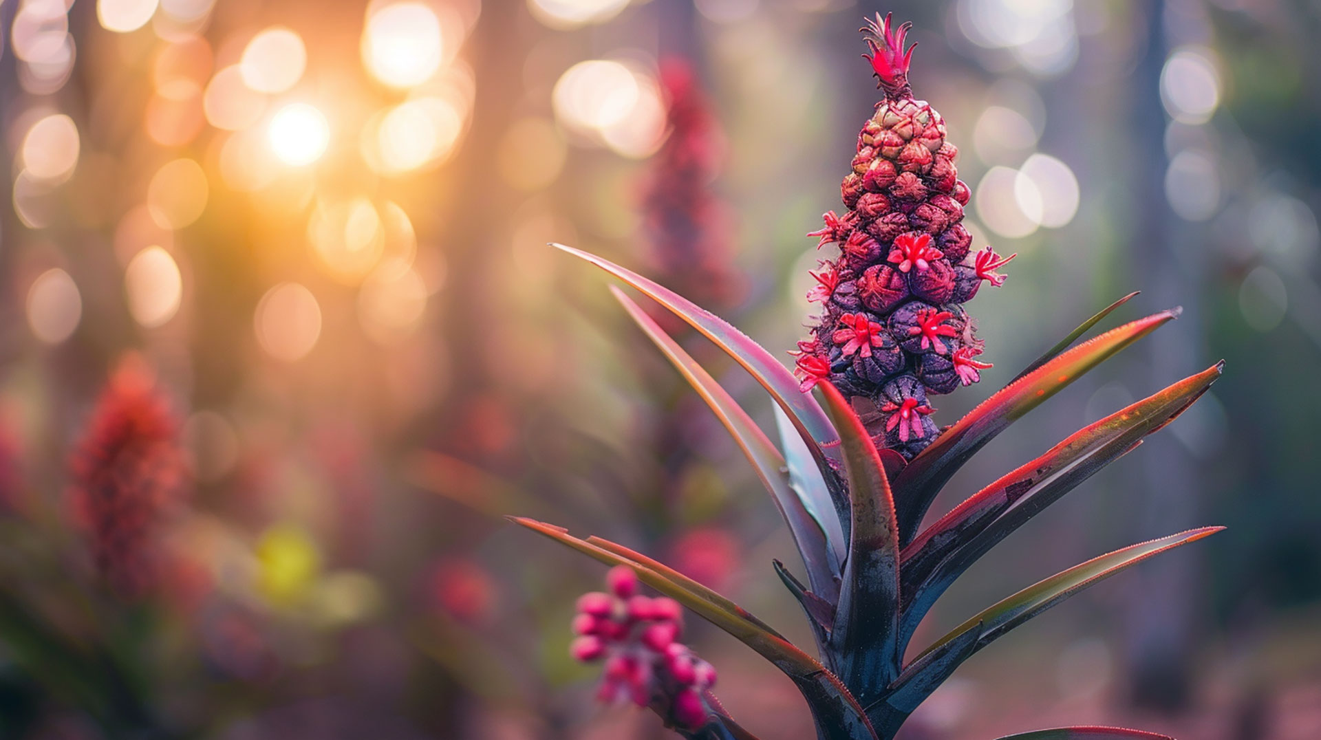
[[[828,381],[818,387],[839,432],[852,511],[832,642],[840,677],[868,702],[898,675],[902,659],[897,649],[900,533],[894,498],[863,420]]]

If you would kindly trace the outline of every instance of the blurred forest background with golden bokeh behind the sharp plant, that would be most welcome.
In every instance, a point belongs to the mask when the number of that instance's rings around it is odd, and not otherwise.
[[[0,0],[0,737],[663,737],[568,658],[601,568],[503,514],[807,641],[750,469],[604,276],[544,244],[791,349],[803,234],[878,99],[856,33],[877,11],[915,22],[974,246],[1020,255],[975,308],[996,367],[938,423],[1129,291],[1128,317],[1184,307],[935,509],[1227,362],[923,629],[1120,544],[1229,533],[997,642],[905,736],[1321,736],[1313,0]],[[667,209],[701,214],[691,239]],[[793,686],[697,621],[731,712],[810,736]]]

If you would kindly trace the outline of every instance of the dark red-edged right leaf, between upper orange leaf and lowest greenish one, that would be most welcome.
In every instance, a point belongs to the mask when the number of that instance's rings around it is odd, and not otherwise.
[[[1221,377],[1223,362],[1087,426],[971,496],[909,543],[901,558],[900,645],[931,604],[996,543],[1096,470],[1170,423]]]

